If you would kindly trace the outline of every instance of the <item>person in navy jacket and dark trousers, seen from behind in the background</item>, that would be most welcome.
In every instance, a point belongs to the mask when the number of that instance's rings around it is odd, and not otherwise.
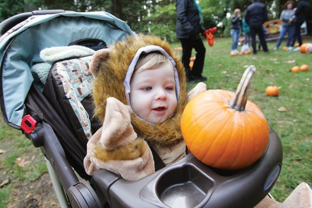
[[[258,34],[263,50],[268,53],[269,49],[262,26],[263,23],[265,23],[268,19],[268,11],[266,5],[258,2],[257,0],[251,0],[251,2],[252,4],[249,5],[246,10],[245,20],[250,28],[251,45],[253,49],[252,53],[257,53],[255,34]]]

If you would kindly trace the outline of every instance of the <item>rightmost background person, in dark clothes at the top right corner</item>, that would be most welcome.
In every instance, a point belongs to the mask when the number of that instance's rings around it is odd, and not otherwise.
[[[300,27],[302,23],[305,21],[305,15],[307,14],[308,9],[309,9],[309,3],[306,0],[298,1],[297,7],[294,9],[295,10],[295,19],[294,19],[295,32],[294,32],[293,41],[292,41],[290,49],[293,48],[296,38],[297,38],[299,46],[295,48],[294,50],[300,50],[300,45],[302,45]]]

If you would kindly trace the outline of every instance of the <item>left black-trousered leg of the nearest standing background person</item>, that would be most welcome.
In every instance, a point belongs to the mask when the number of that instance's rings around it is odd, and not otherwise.
[[[188,38],[180,38],[181,41],[181,45],[182,45],[182,64],[184,66],[185,69],[185,73],[186,73],[186,80],[192,80],[192,73],[191,73],[191,69],[190,69],[190,58],[192,55],[192,41]]]

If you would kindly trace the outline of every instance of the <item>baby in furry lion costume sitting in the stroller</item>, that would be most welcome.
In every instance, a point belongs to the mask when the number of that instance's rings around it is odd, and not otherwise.
[[[199,83],[187,94],[183,65],[169,43],[151,35],[129,36],[97,51],[90,70],[95,116],[103,125],[87,144],[89,175],[105,168],[135,181],[185,156],[182,112],[206,87]]]

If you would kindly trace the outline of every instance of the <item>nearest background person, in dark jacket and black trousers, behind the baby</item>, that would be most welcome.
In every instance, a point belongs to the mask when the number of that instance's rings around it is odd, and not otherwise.
[[[182,63],[187,81],[205,81],[207,78],[201,75],[206,51],[199,36],[205,30],[201,25],[201,8],[194,0],[177,0],[176,9],[176,35],[182,44]],[[196,59],[191,70],[189,63],[193,48],[196,50]]]

